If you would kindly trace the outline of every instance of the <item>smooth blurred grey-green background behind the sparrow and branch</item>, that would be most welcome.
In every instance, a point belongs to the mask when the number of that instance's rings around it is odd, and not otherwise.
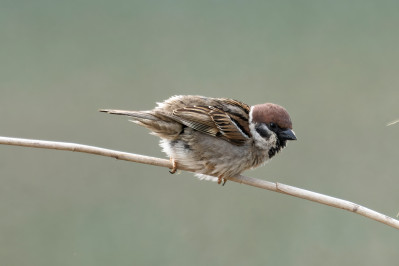
[[[299,138],[245,174],[399,212],[397,1],[0,3],[2,136],[165,157],[99,108],[275,102]],[[0,146],[2,265],[388,265],[399,232],[190,173]]]

